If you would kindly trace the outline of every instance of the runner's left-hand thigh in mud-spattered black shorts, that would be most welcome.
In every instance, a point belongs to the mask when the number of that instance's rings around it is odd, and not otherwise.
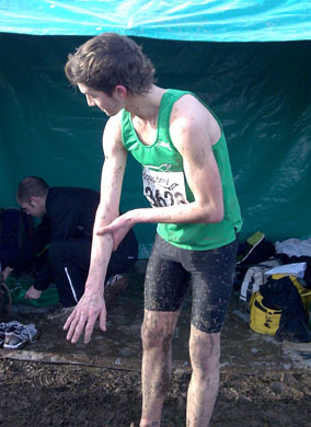
[[[145,308],[150,311],[180,310],[189,287],[188,278],[178,262],[178,249],[157,235],[146,272]]]

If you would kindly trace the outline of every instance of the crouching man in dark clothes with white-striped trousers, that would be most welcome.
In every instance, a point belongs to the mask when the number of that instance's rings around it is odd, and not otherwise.
[[[33,239],[4,268],[4,279],[13,269],[23,270],[48,245],[25,299],[38,299],[49,282],[55,281],[64,309],[53,316],[68,315],[84,292],[100,194],[88,188],[49,188],[44,180],[27,176],[19,185],[16,199],[22,209],[42,221]],[[137,259],[137,252],[138,243],[131,230],[113,253],[106,280],[130,269]]]

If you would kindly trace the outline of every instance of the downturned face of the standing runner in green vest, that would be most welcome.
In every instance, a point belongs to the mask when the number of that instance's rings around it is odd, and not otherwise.
[[[78,88],[85,95],[89,106],[97,106],[107,116],[115,116],[124,107],[123,100],[114,93],[110,96],[103,91],[96,91],[82,83],[78,83]]]

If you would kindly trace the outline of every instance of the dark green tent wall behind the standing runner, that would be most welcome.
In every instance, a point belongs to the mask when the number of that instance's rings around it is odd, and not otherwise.
[[[89,36],[0,33],[0,206],[15,205],[26,175],[99,189],[106,117],[64,74]],[[244,227],[268,239],[309,238],[311,42],[224,43],[134,37],[158,84],[200,95],[223,124]],[[122,209],[148,206],[129,157]],[[137,226],[140,257],[154,226]]]

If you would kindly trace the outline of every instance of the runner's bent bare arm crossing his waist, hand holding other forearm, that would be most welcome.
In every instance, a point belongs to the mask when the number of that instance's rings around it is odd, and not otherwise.
[[[185,114],[185,112],[188,112]],[[184,160],[184,171],[194,201],[158,208],[135,209],[99,232],[114,233],[114,247],[122,240],[119,227],[138,222],[219,222],[223,218],[222,187],[212,143],[220,129],[211,114],[193,96],[182,97],[171,115],[170,134]]]

